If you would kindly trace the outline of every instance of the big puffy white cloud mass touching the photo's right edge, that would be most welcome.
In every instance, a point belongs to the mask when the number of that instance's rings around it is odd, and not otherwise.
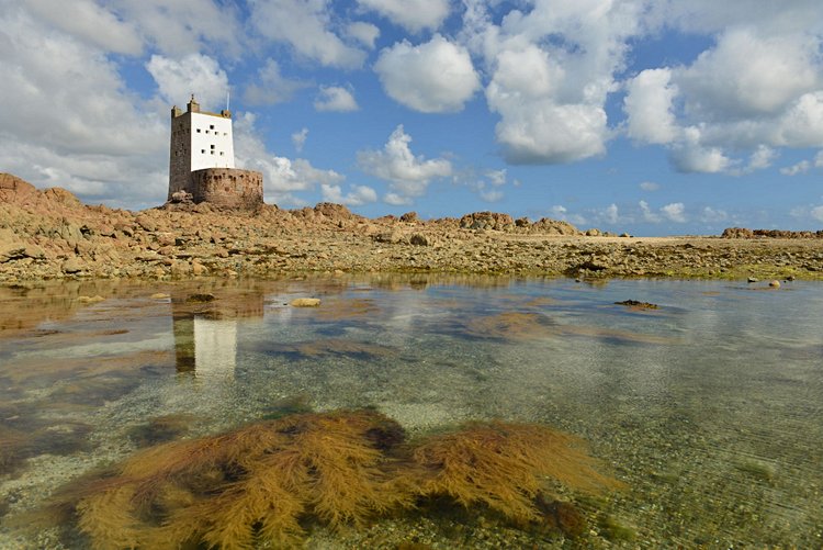
[[[744,11],[775,12],[755,3],[756,9]],[[674,3],[666,10],[695,16],[724,11],[701,5],[707,12]],[[809,32],[810,22],[799,15],[810,4],[785,8],[775,13],[780,25],[743,12],[722,30],[707,20],[702,32],[718,33],[713,47],[690,65],[647,69],[630,80],[623,104],[627,135],[666,145],[680,171],[733,176],[771,166],[779,147],[823,146],[823,29]],[[655,12],[662,13],[659,4],[650,21]],[[749,18],[752,24],[741,24]],[[675,16],[667,24],[685,21]]]

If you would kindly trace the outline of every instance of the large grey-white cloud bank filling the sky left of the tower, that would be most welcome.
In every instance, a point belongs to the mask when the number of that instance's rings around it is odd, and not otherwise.
[[[65,187],[90,202],[164,202],[165,116],[126,91],[99,45],[35,20],[20,4],[0,2],[0,50],[4,171],[38,187]]]

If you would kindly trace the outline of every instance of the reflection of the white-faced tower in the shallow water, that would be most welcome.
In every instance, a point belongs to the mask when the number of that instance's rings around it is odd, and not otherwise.
[[[239,319],[263,316],[263,294],[233,294],[208,302],[202,296],[172,293],[177,371],[233,378]]]

